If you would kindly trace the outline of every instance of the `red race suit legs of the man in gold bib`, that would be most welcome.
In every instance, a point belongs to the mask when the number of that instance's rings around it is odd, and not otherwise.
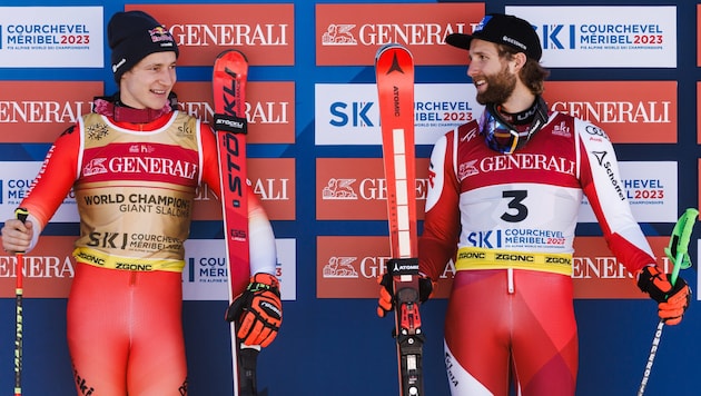
[[[180,273],[78,264],[68,346],[82,396],[186,395]]]

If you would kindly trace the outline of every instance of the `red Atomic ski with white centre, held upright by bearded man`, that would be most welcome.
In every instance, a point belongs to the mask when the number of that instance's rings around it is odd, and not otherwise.
[[[416,230],[416,157],[414,147],[414,60],[399,44],[377,51],[375,72],[383,160],[387,180],[395,336],[402,396],[423,396],[424,335],[418,311],[418,236]]]

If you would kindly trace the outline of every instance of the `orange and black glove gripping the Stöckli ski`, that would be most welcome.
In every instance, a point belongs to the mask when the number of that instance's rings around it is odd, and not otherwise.
[[[277,278],[256,274],[250,284],[226,310],[226,320],[237,320],[236,336],[245,345],[268,346],[283,323],[283,304]]]

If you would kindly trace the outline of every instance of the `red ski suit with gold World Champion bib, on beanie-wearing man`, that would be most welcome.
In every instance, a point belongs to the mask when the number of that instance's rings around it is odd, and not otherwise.
[[[67,331],[79,395],[187,393],[182,244],[204,182],[219,194],[214,132],[180,111],[148,123],[90,113],[51,147],[21,205],[42,229],[76,194]],[[248,199],[250,271],[275,274],[270,224],[250,188]]]

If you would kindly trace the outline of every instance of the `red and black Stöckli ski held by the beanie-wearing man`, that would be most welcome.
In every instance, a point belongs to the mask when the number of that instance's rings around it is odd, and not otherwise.
[[[221,212],[228,261],[229,304],[250,279],[246,175],[246,80],[248,61],[237,50],[221,52],[214,65],[214,130],[221,171]],[[231,323],[231,366],[235,396],[255,396],[259,348],[241,347]]]

